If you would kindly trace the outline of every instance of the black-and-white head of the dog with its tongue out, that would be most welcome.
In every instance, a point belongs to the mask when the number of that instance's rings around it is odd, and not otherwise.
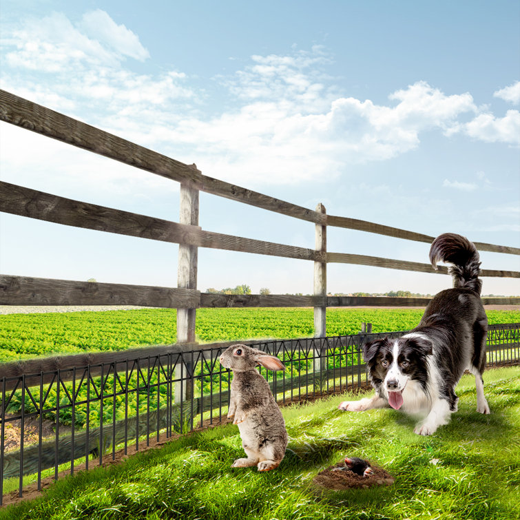
[[[393,408],[403,404],[402,391],[408,380],[415,379],[426,390],[428,355],[432,343],[423,336],[405,335],[397,340],[384,337],[363,346],[363,357],[375,388],[388,396]]]

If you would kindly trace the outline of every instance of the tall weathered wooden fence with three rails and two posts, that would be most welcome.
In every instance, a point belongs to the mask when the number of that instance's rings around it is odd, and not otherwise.
[[[446,267],[439,267],[439,269],[434,270],[430,264],[353,253],[331,252],[327,251],[326,248],[326,228],[329,226],[357,229],[426,243],[432,242],[434,238],[432,236],[364,220],[327,215],[324,206],[321,204],[313,211],[256,191],[225,183],[222,180],[203,175],[195,165],[185,165],[3,90],[0,90],[0,119],[180,183],[180,219],[179,222],[171,222],[0,182],[0,211],[56,222],[61,225],[120,233],[127,236],[173,242],[179,245],[178,287],[176,288],[48,280],[4,274],[0,275],[0,304],[2,305],[131,304],[176,308],[178,309],[177,343],[193,348],[196,309],[199,307],[313,306],[315,309],[315,336],[323,337],[326,335],[327,306],[410,306],[424,305],[427,302],[427,300],[421,298],[327,296],[326,266],[331,262],[424,273],[447,273]],[[214,233],[201,229],[198,226],[198,194],[200,191],[292,218],[313,222],[315,224],[315,249]],[[520,254],[520,249],[517,247],[481,242],[475,242],[475,245],[480,251]],[[200,247],[310,260],[315,265],[314,295],[201,294],[197,289],[197,260],[198,248]],[[517,271],[482,269],[481,276],[520,278],[520,273]],[[484,303],[491,302],[495,304],[520,304],[520,298],[484,300]]]

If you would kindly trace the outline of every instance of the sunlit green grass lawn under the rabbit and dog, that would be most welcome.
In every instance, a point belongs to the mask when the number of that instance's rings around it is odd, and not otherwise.
[[[120,465],[67,477],[5,519],[503,519],[520,517],[520,371],[484,375],[492,414],[475,411],[472,376],[459,411],[432,437],[395,410],[346,413],[344,397],[283,410],[291,440],[273,472],[230,468],[238,428],[206,430]],[[393,486],[324,492],[311,481],[345,455],[370,459]],[[430,460],[439,459],[439,464]]]

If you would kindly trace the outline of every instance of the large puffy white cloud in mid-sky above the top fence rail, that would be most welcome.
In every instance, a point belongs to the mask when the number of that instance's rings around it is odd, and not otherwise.
[[[469,94],[447,96],[423,81],[392,94],[397,104],[391,106],[344,97],[324,103],[317,93],[321,89],[331,97],[331,92],[311,76],[300,78],[308,62],[308,56],[300,61],[269,56],[274,69],[255,65],[247,70],[247,81],[233,85],[233,92],[238,94],[241,86],[249,96],[237,110],[209,121],[187,118],[163,138],[192,147],[202,169],[211,167],[214,176],[242,183],[296,183],[339,176],[346,163],[408,152],[419,145],[421,132],[444,130],[459,114],[476,110]],[[280,82],[297,86],[284,88]],[[251,90],[251,85],[262,88]],[[271,86],[276,95],[269,93]],[[298,96],[309,98],[310,105],[295,102]]]

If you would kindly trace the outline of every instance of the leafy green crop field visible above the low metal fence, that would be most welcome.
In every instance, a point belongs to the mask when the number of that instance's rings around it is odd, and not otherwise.
[[[373,332],[406,331],[422,309],[328,309],[327,335],[355,334],[362,322]],[[517,311],[488,311],[490,323],[520,321]],[[312,309],[198,309],[201,343],[313,335]],[[32,357],[121,351],[176,341],[175,309],[7,314],[0,316],[0,363]]]

